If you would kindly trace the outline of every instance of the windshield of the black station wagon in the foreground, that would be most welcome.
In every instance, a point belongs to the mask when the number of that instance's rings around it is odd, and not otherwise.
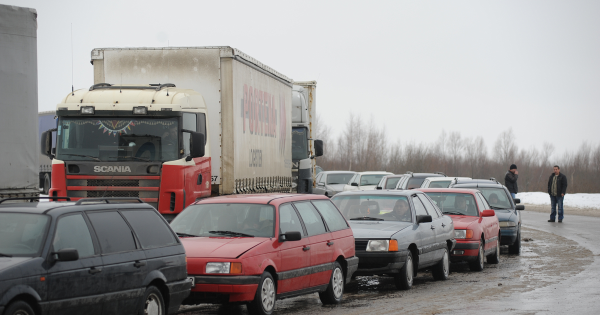
[[[1,256],[38,256],[49,223],[49,217],[43,214],[0,213]]]

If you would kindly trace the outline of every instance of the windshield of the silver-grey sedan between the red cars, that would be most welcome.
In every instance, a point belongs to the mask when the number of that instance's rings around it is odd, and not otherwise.
[[[334,196],[331,201],[348,220],[381,220],[412,222],[406,196],[361,195]]]

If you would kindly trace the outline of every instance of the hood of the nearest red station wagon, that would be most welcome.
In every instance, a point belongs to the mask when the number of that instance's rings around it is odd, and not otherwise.
[[[268,238],[198,237],[182,238],[185,256],[236,258]]]

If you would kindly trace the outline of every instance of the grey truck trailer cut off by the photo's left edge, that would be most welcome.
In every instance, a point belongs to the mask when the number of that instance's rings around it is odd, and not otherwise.
[[[0,4],[0,199],[39,196],[37,12]]]

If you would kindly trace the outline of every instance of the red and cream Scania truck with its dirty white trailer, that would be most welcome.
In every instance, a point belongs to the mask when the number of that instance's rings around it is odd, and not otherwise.
[[[292,79],[232,47],[94,49],[92,64],[94,86],[42,134],[51,196],[139,197],[170,220],[203,197],[292,189]]]

